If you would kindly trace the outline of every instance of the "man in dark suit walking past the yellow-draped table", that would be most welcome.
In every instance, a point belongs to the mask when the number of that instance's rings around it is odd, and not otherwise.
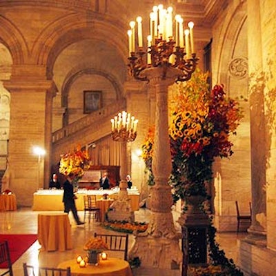
[[[75,204],[75,199],[77,199],[75,193],[74,193],[74,187],[72,185],[72,180],[75,178],[75,175],[70,173],[66,179],[66,181],[63,184],[63,204],[64,204],[64,213],[69,213],[70,210],[72,211],[72,214],[74,216],[75,221],[77,222],[77,225],[84,224],[84,222],[81,222],[79,219],[79,215],[77,214],[77,208]]]

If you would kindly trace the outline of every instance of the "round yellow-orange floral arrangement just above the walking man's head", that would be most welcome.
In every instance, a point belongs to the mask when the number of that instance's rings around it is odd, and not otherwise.
[[[67,152],[61,155],[59,172],[63,175],[72,173],[76,175],[77,178],[81,178],[84,172],[90,168],[91,164],[92,161],[87,150],[81,150],[81,147],[77,146],[73,152]]]

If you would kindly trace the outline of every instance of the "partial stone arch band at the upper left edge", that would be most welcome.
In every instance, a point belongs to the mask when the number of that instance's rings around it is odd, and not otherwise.
[[[8,19],[0,17],[0,41],[10,51],[14,65],[24,63],[29,55],[29,49],[23,34]]]

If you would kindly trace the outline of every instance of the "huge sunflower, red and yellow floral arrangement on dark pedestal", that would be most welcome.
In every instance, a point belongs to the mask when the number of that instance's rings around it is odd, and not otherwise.
[[[206,196],[206,181],[213,178],[215,157],[233,155],[230,135],[242,119],[239,102],[226,97],[224,86],[208,89],[207,73],[197,70],[173,91],[169,126],[172,187],[176,199]]]

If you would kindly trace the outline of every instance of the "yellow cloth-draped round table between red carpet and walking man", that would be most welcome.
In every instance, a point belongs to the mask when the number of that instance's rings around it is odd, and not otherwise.
[[[38,241],[43,251],[72,249],[71,226],[66,213],[39,214]]]

